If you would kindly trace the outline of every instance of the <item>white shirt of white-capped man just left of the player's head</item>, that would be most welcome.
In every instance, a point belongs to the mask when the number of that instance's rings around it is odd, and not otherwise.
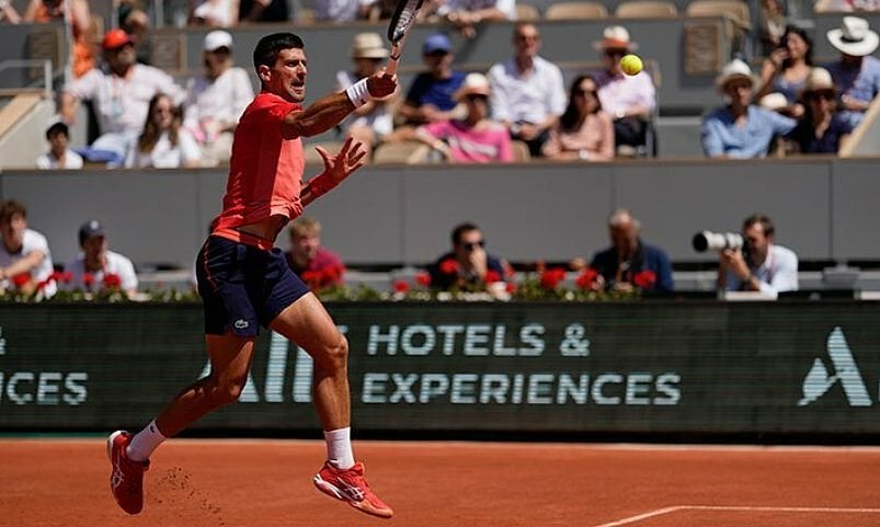
[[[216,79],[194,77],[186,83],[183,126],[199,130],[206,119],[238,123],[252,100],[253,85],[243,68],[229,68]]]

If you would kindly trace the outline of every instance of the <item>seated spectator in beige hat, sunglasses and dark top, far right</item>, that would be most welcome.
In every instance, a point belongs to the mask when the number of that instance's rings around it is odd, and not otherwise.
[[[836,112],[837,89],[831,73],[824,68],[813,68],[801,99],[807,111],[790,136],[795,151],[837,153],[853,127]]]

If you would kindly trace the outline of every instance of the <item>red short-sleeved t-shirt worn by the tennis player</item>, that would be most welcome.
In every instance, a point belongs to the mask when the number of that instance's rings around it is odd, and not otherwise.
[[[215,232],[270,216],[293,219],[302,214],[302,140],[283,125],[284,116],[297,110],[299,104],[266,92],[244,110],[236,127],[224,209],[214,220]]]

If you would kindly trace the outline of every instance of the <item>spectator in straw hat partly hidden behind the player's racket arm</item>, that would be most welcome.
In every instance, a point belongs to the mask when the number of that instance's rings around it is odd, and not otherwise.
[[[376,73],[382,68],[382,62],[388,55],[385,41],[378,33],[354,35],[351,51],[354,69],[352,71],[341,70],[336,73],[336,88],[340,91],[347,90],[358,80]],[[388,98],[372,99],[363,106],[355,108],[342,124],[345,134],[363,142],[367,152],[372,152],[376,145],[393,131],[391,103],[396,98],[397,93]]]

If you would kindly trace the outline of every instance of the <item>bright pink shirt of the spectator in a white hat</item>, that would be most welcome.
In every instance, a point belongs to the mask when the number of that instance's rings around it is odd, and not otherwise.
[[[456,163],[513,161],[511,137],[507,129],[499,123],[483,122],[479,127],[469,128],[464,121],[441,121],[422,128],[449,144],[449,151]]]

